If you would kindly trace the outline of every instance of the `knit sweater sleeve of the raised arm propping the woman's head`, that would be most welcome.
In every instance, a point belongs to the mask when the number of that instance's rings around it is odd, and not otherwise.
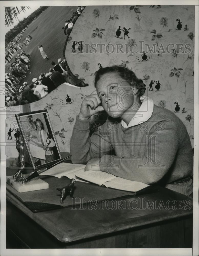
[[[76,117],[72,136],[70,138],[71,161],[76,164],[86,164],[91,158],[100,158],[104,153],[112,150],[109,138],[106,134],[99,134],[99,130],[90,137],[90,118],[80,120]],[[100,131],[104,131],[106,122],[101,126]]]

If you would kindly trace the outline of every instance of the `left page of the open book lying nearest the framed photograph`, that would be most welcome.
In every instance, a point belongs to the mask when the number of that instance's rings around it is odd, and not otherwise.
[[[61,176],[66,176],[71,172],[74,172],[79,169],[85,168],[85,164],[69,164],[69,163],[60,163],[55,165],[54,167],[46,170],[42,173],[42,175],[50,175],[57,178],[61,178]]]

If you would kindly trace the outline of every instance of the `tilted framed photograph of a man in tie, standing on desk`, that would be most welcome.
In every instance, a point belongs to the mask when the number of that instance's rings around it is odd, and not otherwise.
[[[16,114],[15,117],[25,141],[29,163],[34,169],[62,159],[46,109]]]

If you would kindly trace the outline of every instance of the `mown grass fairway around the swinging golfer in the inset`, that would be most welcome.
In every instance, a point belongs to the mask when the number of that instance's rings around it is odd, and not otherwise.
[[[63,59],[62,52],[66,35],[62,27],[65,25],[65,20],[70,19],[76,9],[77,6],[50,6],[33,20],[25,30],[21,42],[25,39],[27,34],[32,36],[27,47],[23,44],[23,50],[25,50],[26,54],[30,55],[31,68],[29,72],[31,72],[31,74],[27,72],[27,77],[21,80],[20,85],[22,85],[24,81],[27,81],[28,84],[32,83],[32,79],[34,77],[38,79],[41,72],[49,72],[49,69],[53,67],[51,61],[55,61],[57,64],[59,58]],[[40,51],[37,49],[37,46],[40,45],[49,47],[44,47],[44,51],[50,58],[49,60],[43,59],[41,56]],[[19,52],[17,52],[17,54]],[[11,63],[14,62],[14,58],[11,60]],[[5,72],[9,73],[9,68],[10,64],[6,63]]]

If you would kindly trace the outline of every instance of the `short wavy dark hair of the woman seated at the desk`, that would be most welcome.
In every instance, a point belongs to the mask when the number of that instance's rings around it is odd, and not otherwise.
[[[138,95],[141,97],[145,90],[146,90],[146,85],[143,83],[142,79],[137,78],[135,73],[128,69],[127,67],[124,66],[111,66],[111,67],[105,67],[105,68],[100,68],[95,72],[95,78],[94,78],[94,86],[96,88],[97,82],[99,79],[107,73],[118,73],[119,76],[124,79],[125,82],[128,82],[131,86],[135,87],[138,89]]]

